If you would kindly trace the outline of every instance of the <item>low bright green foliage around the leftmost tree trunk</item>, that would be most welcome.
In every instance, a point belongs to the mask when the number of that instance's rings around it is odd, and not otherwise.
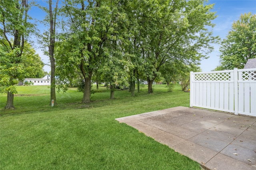
[[[10,41],[13,45],[13,41]],[[20,48],[13,50],[8,46],[6,39],[0,39],[0,92],[17,93],[15,86],[24,78],[42,78],[44,63],[29,43],[25,42],[22,56],[16,57]]]

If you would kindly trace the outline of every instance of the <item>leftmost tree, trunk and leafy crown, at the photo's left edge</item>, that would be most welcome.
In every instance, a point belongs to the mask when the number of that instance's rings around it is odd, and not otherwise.
[[[18,80],[25,77],[25,68],[22,63],[22,52],[27,35],[34,25],[28,20],[27,0],[0,1],[1,22],[1,92],[7,92],[6,109],[15,109],[14,93]],[[13,38],[13,43],[10,38]],[[5,43],[7,41],[7,43]],[[7,47],[8,46],[8,47]]]

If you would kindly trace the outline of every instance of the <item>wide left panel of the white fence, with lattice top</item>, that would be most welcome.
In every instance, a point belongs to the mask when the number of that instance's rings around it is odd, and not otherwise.
[[[234,82],[231,80],[234,76],[231,71],[192,72],[191,77],[192,106],[230,111],[230,96],[231,100],[234,100],[227,91],[230,86],[234,87]]]

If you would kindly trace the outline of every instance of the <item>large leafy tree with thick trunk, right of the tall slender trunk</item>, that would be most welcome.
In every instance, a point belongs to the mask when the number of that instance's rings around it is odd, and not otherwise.
[[[60,10],[67,17],[56,45],[56,74],[61,80],[78,74],[85,80],[83,102],[90,102],[89,84],[94,80],[119,84],[126,79],[129,59],[120,45],[128,20],[118,1],[66,1]],[[124,54],[124,55],[123,55]],[[96,72],[100,72],[97,73]],[[105,76],[100,76],[100,75]]]

